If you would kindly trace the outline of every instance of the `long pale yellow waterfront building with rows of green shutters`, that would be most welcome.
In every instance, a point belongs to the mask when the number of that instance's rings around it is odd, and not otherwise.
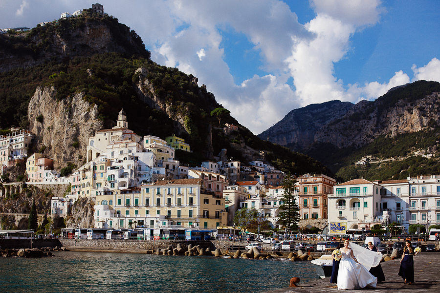
[[[99,216],[100,227],[215,229],[226,226],[224,199],[201,193],[200,179],[161,180],[152,185],[116,190],[96,196],[97,205],[108,205],[109,217]],[[95,206],[95,209],[102,210]],[[98,216],[96,215],[95,218]],[[130,224],[131,223],[131,224]],[[95,223],[95,227],[97,223]]]

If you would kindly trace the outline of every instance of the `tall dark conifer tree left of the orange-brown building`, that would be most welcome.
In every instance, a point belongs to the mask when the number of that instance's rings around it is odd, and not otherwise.
[[[278,216],[280,217],[280,223],[288,230],[292,230],[294,225],[298,225],[300,218],[298,203],[295,199],[295,183],[296,180],[290,173],[283,179],[283,205],[280,207],[281,211]]]

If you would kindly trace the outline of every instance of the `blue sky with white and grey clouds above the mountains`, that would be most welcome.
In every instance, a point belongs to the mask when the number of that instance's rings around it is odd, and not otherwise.
[[[94,3],[0,0],[0,28]],[[154,62],[193,74],[255,134],[309,104],[440,82],[439,0],[100,0]]]

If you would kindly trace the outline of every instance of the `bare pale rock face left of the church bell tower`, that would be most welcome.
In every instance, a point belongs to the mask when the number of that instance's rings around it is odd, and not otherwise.
[[[55,169],[67,162],[81,166],[88,137],[103,127],[98,107],[85,101],[84,93],[61,101],[55,95],[54,87],[37,87],[28,105],[29,129],[37,137],[37,149],[54,159]]]

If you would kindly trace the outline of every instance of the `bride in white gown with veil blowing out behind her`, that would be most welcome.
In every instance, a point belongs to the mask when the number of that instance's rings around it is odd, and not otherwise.
[[[353,252],[354,250],[354,252]],[[380,262],[379,254],[345,240],[338,272],[338,290],[376,288],[377,278],[368,270]],[[372,254],[373,253],[373,254]]]

